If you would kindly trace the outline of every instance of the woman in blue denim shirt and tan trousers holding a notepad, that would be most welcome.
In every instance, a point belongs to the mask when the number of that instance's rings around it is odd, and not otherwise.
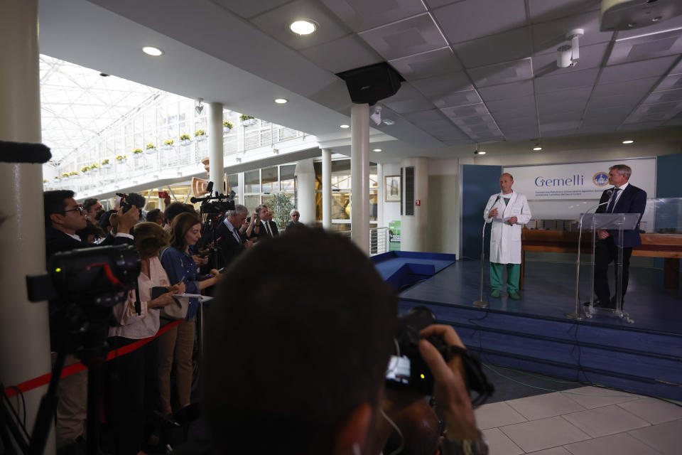
[[[161,264],[172,282],[185,283],[188,294],[199,294],[202,289],[212,286],[218,279],[218,271],[204,276],[197,273],[197,264],[192,258],[190,246],[201,238],[201,219],[195,213],[180,213],[171,224],[171,246],[161,255]],[[196,297],[189,299],[185,321],[159,337],[158,389],[161,396],[161,412],[171,414],[171,370],[175,360],[178,379],[179,408],[190,405],[192,390],[192,350],[194,347],[195,316],[199,309]]]

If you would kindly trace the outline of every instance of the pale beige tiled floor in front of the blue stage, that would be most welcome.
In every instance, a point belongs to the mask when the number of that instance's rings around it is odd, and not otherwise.
[[[483,405],[476,418],[491,455],[682,453],[682,407],[598,387]]]

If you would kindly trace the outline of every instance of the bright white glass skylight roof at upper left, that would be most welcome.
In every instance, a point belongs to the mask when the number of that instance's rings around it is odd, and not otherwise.
[[[166,92],[40,55],[43,144],[53,162]]]

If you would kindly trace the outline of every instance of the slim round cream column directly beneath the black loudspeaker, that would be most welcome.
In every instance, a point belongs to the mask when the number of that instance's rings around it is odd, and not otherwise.
[[[352,240],[369,255],[369,106],[350,111],[350,225]]]

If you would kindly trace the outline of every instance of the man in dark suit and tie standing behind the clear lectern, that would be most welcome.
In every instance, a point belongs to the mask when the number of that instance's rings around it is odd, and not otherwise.
[[[616,164],[609,168],[609,183],[614,188],[607,189],[602,193],[602,198],[599,202],[608,203],[600,206],[597,209],[597,213],[639,213],[639,219],[642,219],[646,206],[646,191],[629,183],[631,175],[632,169],[625,164]],[[608,269],[609,264],[618,259],[618,231],[599,230],[597,231],[597,237],[598,240],[595,245],[595,294],[597,295],[597,301],[595,301],[595,306],[615,309],[615,296],[610,297]],[[639,245],[642,245],[642,239],[639,237],[638,221],[637,228],[623,231],[623,297],[625,296],[625,291],[627,291],[632,247],[639,247]]]

